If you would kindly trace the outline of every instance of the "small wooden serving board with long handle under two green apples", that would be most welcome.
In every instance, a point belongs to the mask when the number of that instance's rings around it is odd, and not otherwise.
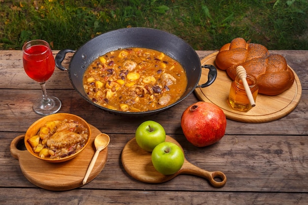
[[[166,142],[172,142],[182,146],[170,136],[166,136]],[[183,148],[182,148],[183,150]],[[196,175],[209,180],[214,187],[222,187],[227,181],[227,177],[219,171],[208,172],[187,161],[185,158],[182,168],[173,175],[163,175],[157,172],[152,164],[152,152],[145,151],[136,142],[136,138],[131,139],[123,148],[122,164],[126,172],[133,178],[147,183],[162,183],[181,175]],[[220,178],[221,181],[215,179]]]

